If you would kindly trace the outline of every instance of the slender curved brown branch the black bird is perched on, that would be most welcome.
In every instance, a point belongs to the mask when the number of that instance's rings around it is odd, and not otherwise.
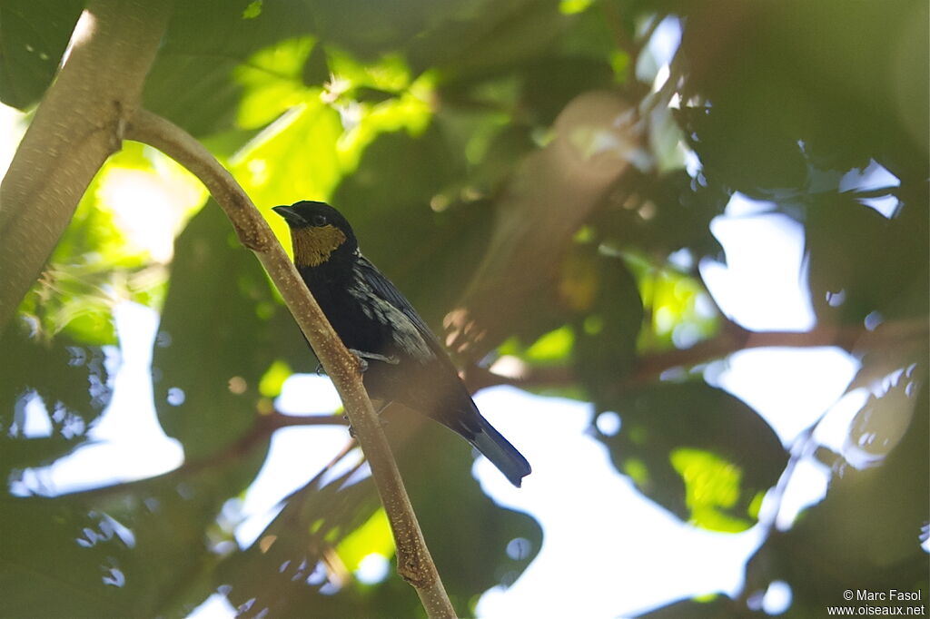
[[[455,611],[420,532],[391,447],[362,385],[358,360],[342,345],[265,219],[233,176],[180,127],[140,110],[126,125],[126,138],[163,151],[200,178],[233,222],[239,239],[255,252],[345,404],[391,522],[398,573],[417,589],[430,617],[454,617]]]

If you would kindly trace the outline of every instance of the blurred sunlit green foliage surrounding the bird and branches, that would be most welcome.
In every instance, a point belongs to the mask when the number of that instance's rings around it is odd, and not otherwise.
[[[0,1],[6,105],[39,103],[83,4]],[[508,382],[485,369],[506,356],[524,369],[518,386],[593,402],[618,471],[715,531],[757,524],[764,494],[817,445],[783,445],[705,379],[752,334],[698,265],[725,261],[710,224],[737,192],[798,222],[817,325],[766,341],[861,359],[850,390],[870,397],[848,448],[813,456],[844,475],[769,532],[743,599],[655,616],[735,613],[783,580],[801,617],[853,584],[927,582],[926,20],[916,0],[195,0],[174,8],[142,98],[265,215],[336,204],[475,389]],[[678,29],[665,65],[658,33]],[[121,183],[173,248],[126,227]],[[112,399],[113,308],[127,299],[161,314],[153,398],[185,463],[34,494],[29,471],[87,444]],[[164,155],[126,143],[103,165],[0,346],[8,616],[183,616],[218,590],[246,616],[421,612],[396,576],[345,577],[366,549],[391,552],[370,481],[351,472],[315,478],[253,547],[235,545],[235,499],[278,428],[273,398],[316,362],[219,208]],[[42,437],[25,431],[37,405]],[[598,431],[599,415],[620,431]],[[446,587],[471,614],[533,560],[541,529],[480,491],[454,437],[412,416],[388,430]],[[514,540],[533,554],[508,553]]]

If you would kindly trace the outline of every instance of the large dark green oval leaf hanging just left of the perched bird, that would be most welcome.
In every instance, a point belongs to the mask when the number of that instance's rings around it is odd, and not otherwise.
[[[178,237],[153,352],[154,399],[187,458],[219,452],[259,415],[259,381],[278,358],[270,334],[285,311],[258,261],[210,202]]]

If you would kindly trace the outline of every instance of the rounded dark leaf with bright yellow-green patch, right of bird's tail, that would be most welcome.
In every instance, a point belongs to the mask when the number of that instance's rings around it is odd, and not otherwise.
[[[622,425],[618,434],[598,438],[614,465],[620,472],[631,465],[641,492],[697,526],[750,528],[756,496],[776,484],[788,463],[775,432],[755,411],[703,382],[632,389],[608,405]],[[711,487],[716,496],[699,496]]]

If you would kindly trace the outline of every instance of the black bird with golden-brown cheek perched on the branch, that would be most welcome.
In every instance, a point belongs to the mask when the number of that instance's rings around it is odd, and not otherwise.
[[[457,432],[513,485],[529,463],[478,412],[439,339],[417,310],[358,249],[335,208],[302,201],[275,206],[291,230],[294,265],[346,348],[367,363],[374,400],[398,402]]]

